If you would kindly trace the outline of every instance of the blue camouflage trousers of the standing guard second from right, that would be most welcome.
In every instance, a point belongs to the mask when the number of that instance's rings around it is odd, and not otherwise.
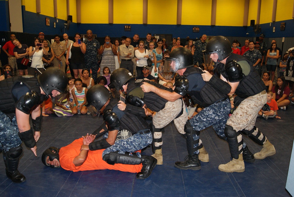
[[[205,107],[201,112],[196,114],[191,120],[191,126],[196,131],[201,131],[209,126],[212,126],[216,134],[225,138],[224,130],[225,124],[228,120],[228,115],[231,110],[231,104],[229,99],[222,102],[216,102],[208,107]],[[199,136],[193,134],[193,140],[198,140]],[[201,140],[199,139],[198,145],[194,145],[194,148],[201,145]],[[194,152],[199,153],[199,150]]]

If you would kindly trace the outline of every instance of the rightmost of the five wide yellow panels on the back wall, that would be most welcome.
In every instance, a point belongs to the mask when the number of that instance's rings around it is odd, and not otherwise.
[[[243,26],[244,4],[245,0],[218,0],[216,25]]]

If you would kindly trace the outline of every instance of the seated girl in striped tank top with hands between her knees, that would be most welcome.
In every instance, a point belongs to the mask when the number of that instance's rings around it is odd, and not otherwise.
[[[86,87],[83,87],[83,82],[81,79],[77,78],[74,80],[75,88],[71,90],[71,93],[74,97],[74,105],[70,105],[72,114],[77,114],[78,110],[81,110],[81,114],[87,113],[87,107],[86,105],[86,93],[88,89]],[[80,105],[80,107],[78,107]]]

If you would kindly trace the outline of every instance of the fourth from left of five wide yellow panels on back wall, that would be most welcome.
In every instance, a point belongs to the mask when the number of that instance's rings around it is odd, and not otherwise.
[[[182,25],[210,25],[211,0],[183,0]]]

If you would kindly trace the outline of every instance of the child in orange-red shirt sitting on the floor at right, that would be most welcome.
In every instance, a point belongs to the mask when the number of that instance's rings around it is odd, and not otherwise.
[[[258,116],[263,117],[265,120],[268,120],[268,118],[281,118],[278,116],[278,104],[273,99],[273,92],[268,90],[267,92],[267,101],[266,104],[263,106],[263,108],[258,112]]]

